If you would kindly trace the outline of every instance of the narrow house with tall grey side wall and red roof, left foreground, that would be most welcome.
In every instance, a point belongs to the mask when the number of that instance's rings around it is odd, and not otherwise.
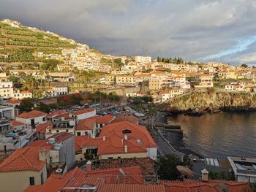
[[[51,167],[64,167],[71,169],[75,164],[75,136],[70,133],[54,134],[48,139],[32,142],[31,147],[50,147],[49,164]]]

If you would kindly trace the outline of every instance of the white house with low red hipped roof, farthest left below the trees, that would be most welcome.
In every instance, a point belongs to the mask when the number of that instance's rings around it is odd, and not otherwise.
[[[28,126],[35,128],[36,125],[45,123],[47,120],[45,112],[38,110],[32,110],[30,112],[23,112],[15,117],[15,120],[21,123],[25,123]]]

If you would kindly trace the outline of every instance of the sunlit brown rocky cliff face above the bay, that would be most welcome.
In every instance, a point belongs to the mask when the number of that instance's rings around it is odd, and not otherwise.
[[[167,112],[218,112],[256,110],[256,94],[206,91],[192,92],[187,96],[163,104]]]

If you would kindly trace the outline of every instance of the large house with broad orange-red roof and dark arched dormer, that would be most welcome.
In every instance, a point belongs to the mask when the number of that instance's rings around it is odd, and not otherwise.
[[[78,144],[81,154],[92,154],[99,159],[157,158],[157,144],[146,127],[128,121],[103,126],[97,138],[81,139]]]

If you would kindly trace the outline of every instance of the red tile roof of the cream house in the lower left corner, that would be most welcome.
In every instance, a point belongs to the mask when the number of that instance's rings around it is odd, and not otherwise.
[[[40,171],[45,161],[39,160],[41,147],[24,147],[15,150],[9,158],[0,164],[0,172]]]

